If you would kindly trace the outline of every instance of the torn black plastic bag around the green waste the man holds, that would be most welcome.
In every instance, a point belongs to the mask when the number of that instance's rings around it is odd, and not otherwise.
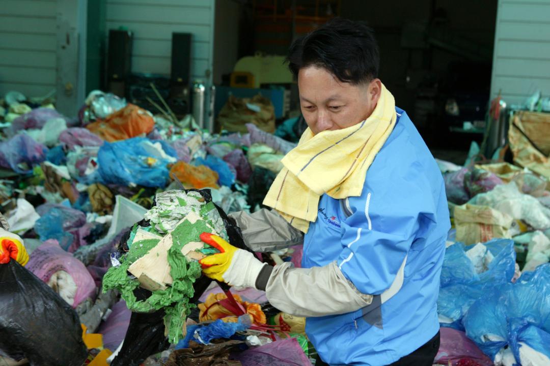
[[[206,202],[212,201],[212,195],[210,189],[188,189],[185,192],[199,192]],[[239,249],[245,249],[251,251],[243,240],[243,235],[240,228],[234,219],[227,216],[227,214],[217,205],[216,209],[219,215],[222,217],[223,224],[226,227],[227,235],[229,237],[229,243]],[[140,226],[149,226],[149,221],[140,221]],[[128,251],[127,243],[130,238],[130,233],[122,235],[120,242],[120,250],[122,252]],[[193,284],[195,294],[189,303],[196,303],[199,298],[204,294],[212,280],[205,275],[201,275]],[[219,283],[219,286],[224,290],[229,290],[229,286],[225,283]],[[142,288],[138,288],[134,291],[138,300],[147,299],[151,296],[151,292]],[[155,354],[164,351],[168,348],[167,337],[164,336],[164,311],[156,311],[153,313],[132,313],[130,318],[130,325],[124,337],[124,342],[117,357],[113,359],[111,366],[138,366],[151,354]]]

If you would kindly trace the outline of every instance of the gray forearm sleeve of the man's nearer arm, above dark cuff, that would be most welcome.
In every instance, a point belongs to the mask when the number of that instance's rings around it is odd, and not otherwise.
[[[361,309],[372,295],[361,294],[332,262],[324,267],[275,266],[267,281],[266,296],[277,309],[299,317],[322,317]]]

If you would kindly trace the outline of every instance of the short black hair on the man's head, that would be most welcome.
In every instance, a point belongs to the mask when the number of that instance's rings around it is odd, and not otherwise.
[[[364,22],[334,18],[296,39],[285,62],[296,77],[300,69],[318,66],[357,85],[378,77],[380,54],[374,32]]]

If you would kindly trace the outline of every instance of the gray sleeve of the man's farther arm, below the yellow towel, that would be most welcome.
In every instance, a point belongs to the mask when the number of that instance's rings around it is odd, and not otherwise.
[[[237,221],[246,246],[255,252],[271,252],[304,243],[304,234],[290,226],[276,211],[239,211],[229,216]]]

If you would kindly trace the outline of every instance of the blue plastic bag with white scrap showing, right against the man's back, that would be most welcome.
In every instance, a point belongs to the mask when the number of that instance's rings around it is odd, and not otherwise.
[[[474,245],[455,243],[447,248],[441,268],[441,288],[437,299],[437,310],[441,323],[463,330],[461,319],[470,306],[486,291],[505,283],[510,283],[515,271],[514,241],[493,239],[483,243],[494,256],[487,271],[476,273],[474,264],[466,252]]]

